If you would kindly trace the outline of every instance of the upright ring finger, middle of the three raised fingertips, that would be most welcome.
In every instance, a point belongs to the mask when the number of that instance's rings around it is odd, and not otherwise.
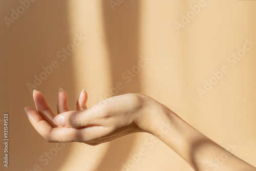
[[[69,111],[68,94],[61,88],[58,93],[57,111],[58,114]]]

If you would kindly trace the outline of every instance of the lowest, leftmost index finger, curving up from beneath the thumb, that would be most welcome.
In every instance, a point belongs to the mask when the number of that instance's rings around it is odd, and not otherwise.
[[[81,130],[72,129],[68,127],[55,127],[53,128],[47,121],[33,108],[25,108],[25,112],[29,118],[30,123],[35,130],[49,142],[74,142],[82,141]]]

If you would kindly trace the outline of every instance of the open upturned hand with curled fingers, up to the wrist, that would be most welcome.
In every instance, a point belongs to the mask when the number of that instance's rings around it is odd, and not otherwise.
[[[87,93],[83,91],[77,100],[77,111],[69,111],[68,96],[59,91],[55,117],[41,92],[33,93],[36,110],[25,112],[36,131],[49,142],[83,142],[97,145],[115,138],[143,132],[147,118],[148,96],[125,94],[105,99],[87,109]]]

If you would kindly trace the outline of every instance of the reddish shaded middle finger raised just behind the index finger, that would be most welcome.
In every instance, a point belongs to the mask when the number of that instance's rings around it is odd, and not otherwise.
[[[41,92],[34,90],[33,98],[36,110],[38,111],[40,117],[46,122],[48,122],[52,127],[56,127],[56,125],[53,123],[53,118],[55,117],[55,115],[49,108],[45,96]]]

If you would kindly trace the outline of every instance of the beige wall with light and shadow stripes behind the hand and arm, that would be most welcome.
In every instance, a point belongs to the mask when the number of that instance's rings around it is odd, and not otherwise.
[[[29,171],[38,164],[41,170],[119,171],[125,170],[122,163],[131,164],[131,155],[140,148],[146,155],[127,170],[192,170],[172,149],[143,133],[98,146],[69,143],[44,165],[40,156],[56,152],[56,144],[33,129],[24,107],[34,106],[26,84],[33,83],[33,75],[53,60],[58,68],[36,89],[54,111],[60,87],[75,110],[83,88],[92,106],[120,81],[124,89],[118,94],[152,96],[224,148],[232,143],[239,146],[233,154],[256,166],[256,45],[236,66],[227,62],[229,55],[243,48],[246,38],[256,41],[256,1],[207,0],[180,32],[174,23],[181,23],[182,14],[200,1],[114,2],[119,3],[113,10],[105,0],[35,1],[8,28],[4,17],[10,17],[11,9],[20,3],[0,1],[0,119],[9,113],[10,139],[9,167],[4,168],[1,159],[1,170]],[[72,44],[75,34],[87,39],[61,61],[57,52]],[[152,60],[125,82],[122,74],[145,55]],[[200,98],[197,88],[203,88],[204,79],[222,66],[229,72]],[[3,121],[0,130],[3,139]]]

